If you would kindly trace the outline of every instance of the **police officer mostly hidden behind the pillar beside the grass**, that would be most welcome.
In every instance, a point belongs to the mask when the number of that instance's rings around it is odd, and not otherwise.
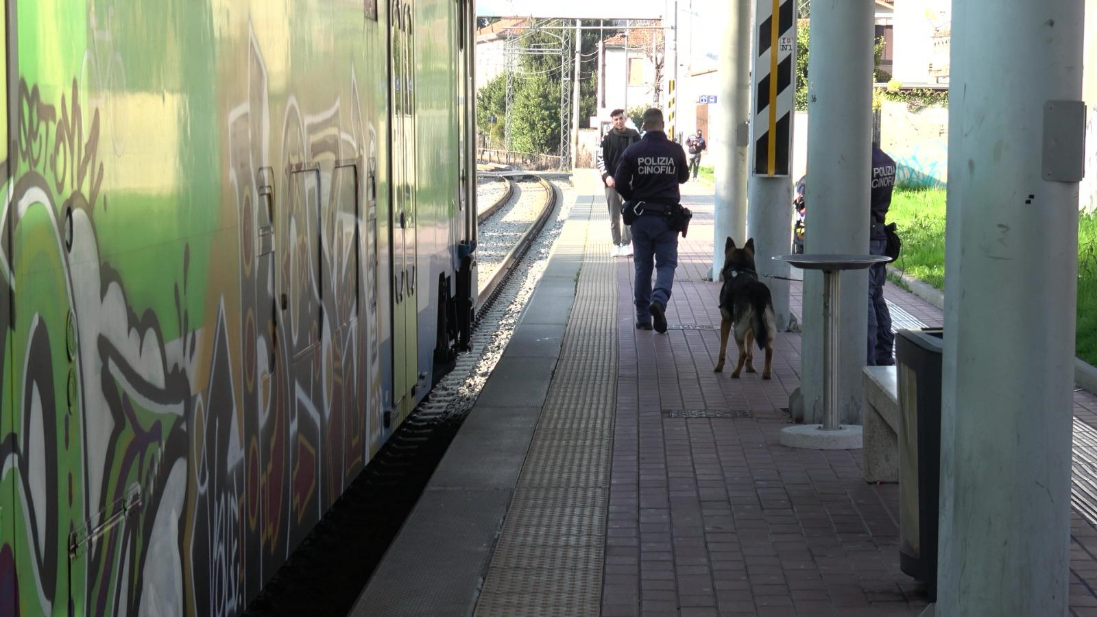
[[[895,187],[895,161],[872,144],[872,189],[870,199],[870,216],[872,227],[869,234],[869,253],[885,255],[887,234],[884,231],[884,220],[891,206],[892,189]],[[892,366],[895,359],[892,348],[895,335],[891,330],[891,312],[884,301],[884,282],[887,279],[887,267],[877,263],[869,269],[869,355],[870,367]]]

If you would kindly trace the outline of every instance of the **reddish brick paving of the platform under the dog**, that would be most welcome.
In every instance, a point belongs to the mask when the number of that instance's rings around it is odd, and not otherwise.
[[[636,330],[631,260],[617,266],[620,370],[602,614],[918,615],[925,585],[898,569],[898,485],[866,484],[860,450],[779,444],[799,386],[800,336],[778,336],[771,381],[712,372],[720,285],[703,281],[712,198],[683,200],[695,215],[679,246],[667,317],[689,329]],[[941,323],[932,305],[885,290],[916,318]],[[674,410],[750,417],[667,417]],[[1097,397],[1076,393],[1075,416],[1097,426]],[[1097,615],[1097,527],[1074,513],[1072,528],[1072,614]]]

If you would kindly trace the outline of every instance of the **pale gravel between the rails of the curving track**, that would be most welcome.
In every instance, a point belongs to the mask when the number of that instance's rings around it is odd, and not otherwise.
[[[530,228],[544,209],[544,189],[536,181],[514,182],[514,193],[490,218],[479,225],[476,240],[477,289],[483,288],[499,269],[510,249]]]

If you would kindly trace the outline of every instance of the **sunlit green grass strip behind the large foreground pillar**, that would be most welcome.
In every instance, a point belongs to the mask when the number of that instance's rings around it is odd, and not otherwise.
[[[943,290],[945,189],[895,189],[887,221],[898,225],[903,238],[903,253],[894,266]],[[1097,366],[1097,214],[1078,216],[1075,347],[1078,358]]]

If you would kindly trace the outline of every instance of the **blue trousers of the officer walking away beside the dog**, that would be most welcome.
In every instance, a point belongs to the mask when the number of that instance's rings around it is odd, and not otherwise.
[[[636,268],[633,298],[636,302],[636,322],[652,323],[647,305],[654,300],[664,306],[670,301],[678,267],[678,232],[669,228],[667,217],[644,214],[632,223],[632,263]],[[656,271],[652,290],[652,269]]]

